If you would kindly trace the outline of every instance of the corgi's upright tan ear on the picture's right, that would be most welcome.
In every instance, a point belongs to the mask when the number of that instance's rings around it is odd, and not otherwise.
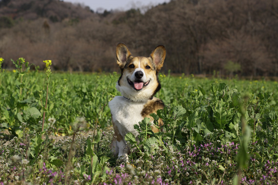
[[[159,70],[162,68],[165,56],[166,49],[163,45],[157,46],[151,53],[150,57],[153,59],[157,72],[159,72]]]

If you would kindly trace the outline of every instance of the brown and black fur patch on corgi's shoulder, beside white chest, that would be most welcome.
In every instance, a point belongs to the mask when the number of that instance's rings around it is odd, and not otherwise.
[[[159,109],[163,109],[164,108],[164,103],[162,100],[160,100],[159,98],[154,97],[151,100],[148,100],[148,102],[144,105],[142,111],[141,111],[141,115],[143,117],[148,116],[151,113],[156,113]]]

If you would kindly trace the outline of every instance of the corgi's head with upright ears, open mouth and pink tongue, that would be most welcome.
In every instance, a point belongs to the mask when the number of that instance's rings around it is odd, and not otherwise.
[[[133,101],[152,99],[160,89],[158,72],[166,56],[165,47],[157,46],[149,57],[132,56],[125,44],[116,49],[121,76],[116,88],[121,95]]]

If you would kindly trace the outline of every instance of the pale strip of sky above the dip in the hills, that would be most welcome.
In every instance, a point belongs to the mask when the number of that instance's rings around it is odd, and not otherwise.
[[[94,11],[106,10],[128,10],[130,8],[140,8],[146,5],[157,5],[163,2],[169,2],[170,0],[64,0],[68,2],[83,3],[89,6]]]

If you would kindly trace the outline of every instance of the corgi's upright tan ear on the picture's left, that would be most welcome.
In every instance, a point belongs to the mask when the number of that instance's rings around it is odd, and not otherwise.
[[[130,56],[132,56],[132,54],[130,53],[126,45],[120,42],[116,48],[116,56],[117,64],[119,65],[119,68],[122,70],[126,64],[126,61]]]

